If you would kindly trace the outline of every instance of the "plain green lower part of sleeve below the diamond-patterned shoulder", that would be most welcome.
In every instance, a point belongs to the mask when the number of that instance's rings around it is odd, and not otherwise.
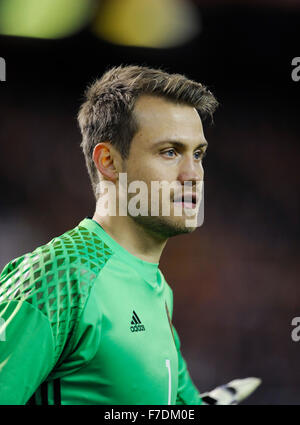
[[[0,304],[0,405],[26,404],[54,362],[51,326],[26,301]]]

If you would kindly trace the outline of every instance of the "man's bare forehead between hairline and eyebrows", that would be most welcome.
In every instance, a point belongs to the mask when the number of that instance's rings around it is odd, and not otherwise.
[[[134,115],[138,122],[136,137],[155,142],[177,139],[203,142],[203,127],[197,110],[158,96],[143,95],[136,101]]]

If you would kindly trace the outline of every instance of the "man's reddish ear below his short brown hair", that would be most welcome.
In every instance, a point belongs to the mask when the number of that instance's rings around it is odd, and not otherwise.
[[[93,151],[93,161],[98,171],[107,180],[115,182],[118,180],[118,170],[116,169],[116,150],[109,142],[98,143]]]

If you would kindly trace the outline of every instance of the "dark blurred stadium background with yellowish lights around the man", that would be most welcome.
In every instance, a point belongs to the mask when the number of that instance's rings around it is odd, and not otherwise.
[[[245,404],[299,404],[299,24],[299,0],[0,1],[0,268],[93,214],[86,85],[121,63],[183,73],[221,106],[204,225],[161,259],[182,353],[200,391],[258,376]]]

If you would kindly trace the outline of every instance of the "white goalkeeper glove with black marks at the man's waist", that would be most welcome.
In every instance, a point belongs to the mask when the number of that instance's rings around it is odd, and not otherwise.
[[[204,405],[239,404],[261,384],[259,378],[234,379],[212,391],[200,394]]]

